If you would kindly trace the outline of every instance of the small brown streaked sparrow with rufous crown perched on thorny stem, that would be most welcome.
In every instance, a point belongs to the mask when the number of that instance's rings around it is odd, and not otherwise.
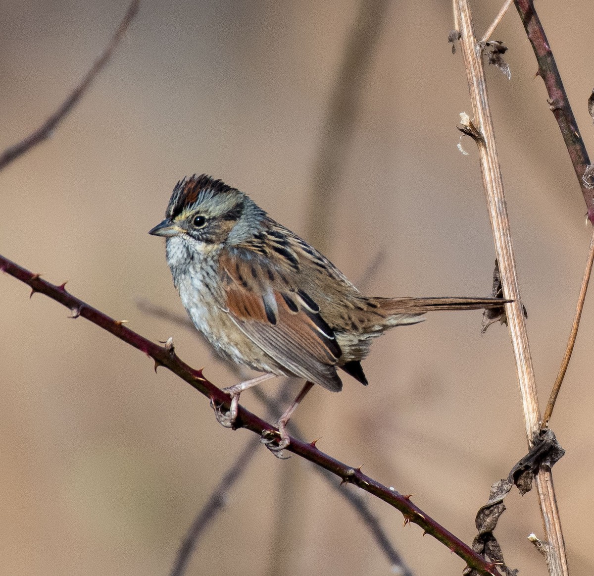
[[[361,294],[323,254],[274,221],[247,194],[207,174],[182,178],[165,219],[149,234],[166,238],[166,259],[194,326],[223,357],[260,376],[225,388],[232,427],[243,391],[274,376],[305,380],[295,402],[263,439],[279,452],[286,425],[315,384],[342,389],[339,369],[367,385],[361,366],[372,341],[433,310],[502,307],[501,298],[386,298]]]

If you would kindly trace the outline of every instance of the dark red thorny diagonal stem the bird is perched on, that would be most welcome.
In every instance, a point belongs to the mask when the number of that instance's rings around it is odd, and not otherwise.
[[[52,284],[40,278],[39,274],[30,272],[30,270],[11,262],[11,260],[4,256],[0,256],[0,270],[29,285],[31,287],[31,295],[35,292],[40,292],[52,298],[52,300],[59,302],[71,311],[72,318],[83,317],[93,322],[95,325],[153,358],[155,367],[165,366],[168,370],[191,385],[192,388],[207,396],[207,398],[210,398],[211,402],[220,405],[223,410],[229,410],[229,395],[204,377],[202,370],[195,370],[182,361],[175,353],[175,349],[170,342],[165,346],[151,342],[149,339],[144,338],[144,336],[127,328],[123,322],[110,318],[107,314],[93,308],[83,300],[80,300],[80,298],[69,294],[64,284],[59,286]],[[236,426],[251,430],[251,432],[257,433],[258,436],[263,436],[264,433],[268,436],[275,433],[276,435],[279,434],[279,431],[274,426],[271,426],[242,406],[239,407]],[[409,496],[402,495],[396,492],[396,490],[384,486],[377,480],[364,474],[361,468],[350,467],[324,454],[324,452],[316,448],[315,443],[305,443],[295,437],[291,437],[290,445],[286,449],[293,452],[293,454],[307,459],[309,462],[314,462],[314,464],[326,468],[326,470],[340,477],[343,482],[355,484],[365,490],[365,492],[369,492],[398,509],[404,515],[406,523],[419,525],[426,533],[431,534],[436,540],[445,544],[453,553],[464,559],[470,568],[476,569],[480,574],[500,575],[497,566],[486,562],[470,546],[438,524],[429,515],[425,514],[425,512],[410,501]]]

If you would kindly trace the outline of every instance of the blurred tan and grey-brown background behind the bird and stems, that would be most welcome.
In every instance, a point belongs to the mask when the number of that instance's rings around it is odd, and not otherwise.
[[[479,34],[501,1],[475,2]],[[590,2],[539,2],[590,151]],[[102,51],[126,4],[0,4],[0,147],[36,128]],[[356,2],[150,2],[108,68],[52,140],[0,175],[0,253],[179,355],[235,382],[191,332],[141,313],[183,311],[162,241],[175,182],[208,172],[312,234],[312,172]],[[470,113],[449,2],[393,2],[375,46],[324,250],[357,279],[386,257],[377,295],[484,295],[494,261],[475,146],[456,149]],[[542,409],[563,354],[590,226],[536,62],[515,10],[494,36],[511,81],[488,70]],[[167,370],[64,307],[0,276],[2,574],[168,574],[179,543],[250,433],[216,423]],[[442,313],[377,341],[367,389],[317,388],[296,422],[318,446],[402,493],[466,542],[495,480],[526,451],[507,329]],[[554,477],[573,574],[591,574],[592,298],[551,421],[567,454]],[[263,385],[278,389],[278,382]],[[242,401],[264,413],[249,392]],[[286,479],[298,479],[287,498]],[[295,487],[296,486],[296,487]],[[298,497],[296,497],[298,496]],[[463,562],[366,498],[415,574]],[[289,502],[285,526],[277,512]],[[535,493],[507,501],[497,536],[510,566],[546,574]],[[285,506],[287,507],[287,506]],[[264,448],[192,556],[188,574],[388,574],[352,509],[299,458]]]

